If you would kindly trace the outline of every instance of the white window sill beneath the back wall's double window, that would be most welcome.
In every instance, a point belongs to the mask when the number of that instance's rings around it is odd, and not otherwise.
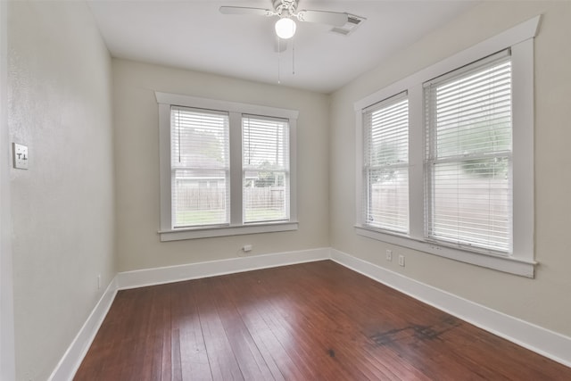
[[[290,221],[223,228],[180,228],[161,230],[159,231],[159,235],[161,236],[161,242],[168,242],[215,236],[241,236],[245,234],[273,233],[278,231],[297,230],[297,228],[298,222]]]

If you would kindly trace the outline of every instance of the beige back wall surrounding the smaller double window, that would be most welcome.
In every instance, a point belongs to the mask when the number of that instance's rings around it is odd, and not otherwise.
[[[116,59],[113,89],[120,271],[328,246],[327,95]],[[154,91],[298,110],[299,230],[161,243]]]

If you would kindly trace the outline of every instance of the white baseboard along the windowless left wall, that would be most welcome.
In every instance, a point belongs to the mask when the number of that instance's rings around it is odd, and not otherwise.
[[[103,319],[107,316],[107,312],[115,299],[115,294],[117,294],[117,282],[116,278],[113,278],[99,302],[95,304],[95,308],[91,311],[85,324],[79,329],[78,335],[75,336],[68,350],[63,354],[62,360],[57,364],[48,381],[67,381],[73,378],[91,343],[93,343]]]

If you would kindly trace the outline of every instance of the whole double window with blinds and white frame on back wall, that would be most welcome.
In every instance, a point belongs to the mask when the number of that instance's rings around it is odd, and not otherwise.
[[[162,241],[297,228],[297,112],[155,95]]]

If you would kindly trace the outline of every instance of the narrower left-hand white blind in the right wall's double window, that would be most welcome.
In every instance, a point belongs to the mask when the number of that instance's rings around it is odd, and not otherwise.
[[[363,110],[365,224],[409,231],[409,101],[395,95]]]

